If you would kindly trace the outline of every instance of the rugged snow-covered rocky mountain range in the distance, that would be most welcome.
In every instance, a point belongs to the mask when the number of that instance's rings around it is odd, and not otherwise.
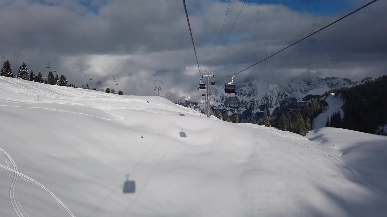
[[[353,85],[348,78],[294,78],[287,86],[273,85],[257,78],[236,90],[235,97],[224,96],[222,85],[211,86],[211,107],[229,110],[229,114],[239,114],[247,122],[254,122],[258,112],[268,111],[270,115],[278,112],[298,110],[308,100],[308,95],[322,95],[329,89],[339,89]],[[203,110],[204,100],[188,107]]]

